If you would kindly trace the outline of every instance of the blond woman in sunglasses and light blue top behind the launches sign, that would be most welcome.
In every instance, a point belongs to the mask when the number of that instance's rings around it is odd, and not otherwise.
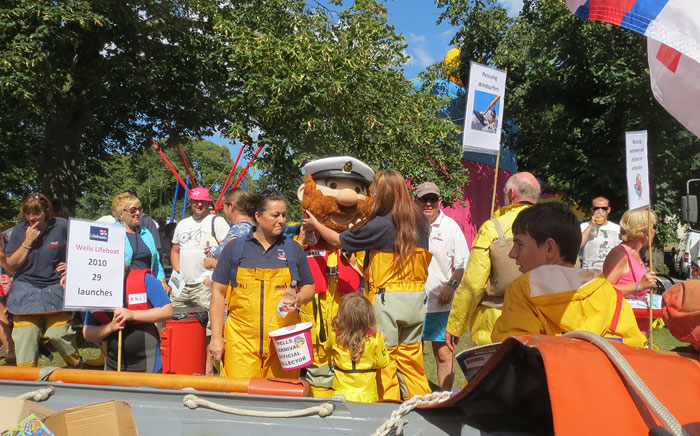
[[[170,293],[153,235],[139,225],[142,211],[139,199],[129,192],[123,192],[112,200],[112,215],[126,227],[124,265],[131,269],[150,269],[165,291]]]

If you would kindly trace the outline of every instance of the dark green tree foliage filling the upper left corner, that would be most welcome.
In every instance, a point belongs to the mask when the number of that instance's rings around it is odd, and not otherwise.
[[[223,126],[224,85],[208,1],[5,2],[0,9],[0,139],[26,171],[2,186],[60,198],[83,174],[150,137]],[[172,121],[172,130],[167,122]],[[34,175],[35,177],[32,177]]]

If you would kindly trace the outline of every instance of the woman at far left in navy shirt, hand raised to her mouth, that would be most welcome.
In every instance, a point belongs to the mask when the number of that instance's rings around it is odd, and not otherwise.
[[[81,364],[72,313],[63,312],[61,286],[66,262],[68,222],[53,216],[43,194],[31,194],[19,211],[20,222],[5,246],[14,279],[7,297],[13,315],[17,366],[36,366],[39,337],[48,338],[68,366]]]

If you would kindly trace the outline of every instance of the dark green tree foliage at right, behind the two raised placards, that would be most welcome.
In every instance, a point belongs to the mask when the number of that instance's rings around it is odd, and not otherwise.
[[[468,60],[479,56],[508,69],[504,142],[521,169],[584,209],[608,197],[619,217],[627,205],[625,132],[647,130],[653,207],[662,217],[679,212],[700,140],[654,100],[643,36],[576,18],[560,0],[526,0],[515,18],[496,0],[439,3],[453,24],[486,23],[457,33],[454,42],[468,47],[460,69],[467,77]]]

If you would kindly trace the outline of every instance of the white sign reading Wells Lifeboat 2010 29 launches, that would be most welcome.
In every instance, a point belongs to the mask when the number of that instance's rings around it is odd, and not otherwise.
[[[71,218],[68,223],[65,310],[124,306],[126,228]]]

